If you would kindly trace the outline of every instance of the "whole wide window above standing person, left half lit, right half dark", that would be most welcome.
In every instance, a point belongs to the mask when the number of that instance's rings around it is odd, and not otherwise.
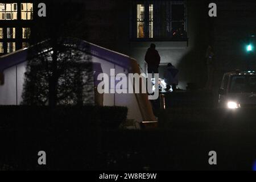
[[[185,0],[134,0],[131,7],[131,39],[187,40]]]

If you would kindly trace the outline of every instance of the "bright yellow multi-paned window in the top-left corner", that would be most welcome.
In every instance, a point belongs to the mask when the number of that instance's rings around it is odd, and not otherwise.
[[[0,3],[0,20],[17,19],[17,3]]]

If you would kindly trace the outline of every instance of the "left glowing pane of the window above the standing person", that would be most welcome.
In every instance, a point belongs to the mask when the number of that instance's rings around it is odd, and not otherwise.
[[[137,38],[144,38],[144,5],[137,5]]]

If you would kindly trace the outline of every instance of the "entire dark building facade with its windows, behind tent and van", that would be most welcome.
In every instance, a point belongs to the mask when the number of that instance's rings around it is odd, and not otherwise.
[[[6,6],[9,2],[0,2],[1,54],[48,38],[47,34],[39,36],[39,32],[51,27],[48,31],[56,33],[58,28],[54,25],[63,22],[59,32],[67,29],[69,36],[134,57],[142,72],[147,72],[147,48],[155,43],[161,56],[160,76],[167,63],[174,64],[180,70],[182,89],[188,82],[204,87],[205,53],[209,45],[215,53],[215,86],[219,86],[224,72],[245,69],[242,47],[245,38],[256,30],[256,3],[250,0],[213,1],[217,4],[217,17],[213,18],[208,16],[208,5],[212,2],[208,0],[40,2],[47,5],[46,18],[37,15],[39,1],[11,1],[11,6]],[[67,23],[67,18],[79,21]]]

